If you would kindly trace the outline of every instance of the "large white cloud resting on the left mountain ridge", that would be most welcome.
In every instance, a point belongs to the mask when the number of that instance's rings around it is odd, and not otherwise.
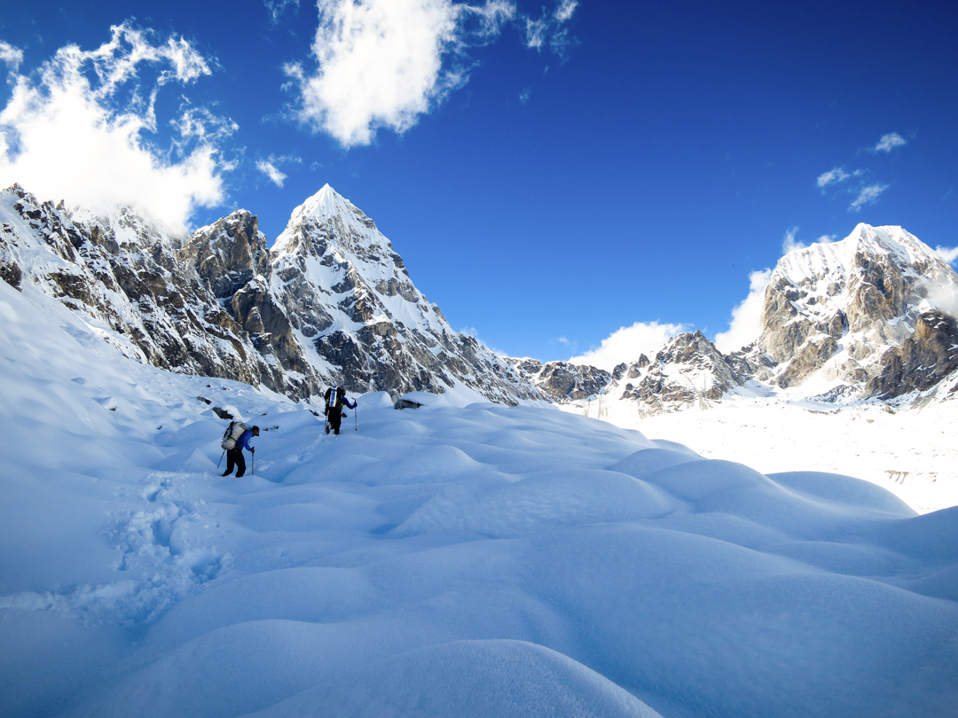
[[[150,31],[125,24],[111,32],[90,52],[61,48],[35,79],[14,78],[0,112],[0,186],[19,182],[43,199],[95,210],[129,205],[182,229],[196,206],[222,201],[230,166],[217,142],[237,125],[184,102],[170,123],[178,135],[171,147],[155,146],[146,135],[157,131],[161,88],[209,75],[210,66],[182,38],[154,44]]]

